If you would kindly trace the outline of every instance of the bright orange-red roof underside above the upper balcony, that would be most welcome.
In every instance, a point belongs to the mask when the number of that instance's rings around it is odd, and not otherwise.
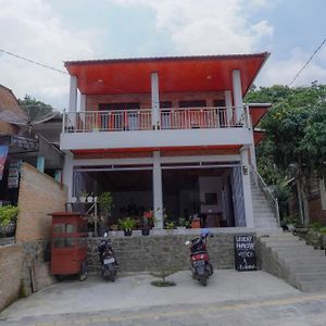
[[[146,59],[67,61],[85,95],[141,93],[151,91],[152,72],[159,73],[160,92],[231,89],[231,71],[241,71],[247,92],[268,52],[256,54],[200,55]]]

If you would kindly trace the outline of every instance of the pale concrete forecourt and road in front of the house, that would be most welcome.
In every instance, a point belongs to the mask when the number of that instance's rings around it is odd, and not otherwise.
[[[326,293],[303,294],[264,272],[216,271],[208,287],[189,272],[155,288],[148,274],[67,279],[21,299],[0,325],[326,325]]]

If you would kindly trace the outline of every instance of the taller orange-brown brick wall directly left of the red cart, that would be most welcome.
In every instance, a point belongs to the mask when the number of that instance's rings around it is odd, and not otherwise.
[[[16,242],[50,239],[52,217],[48,214],[64,211],[66,196],[65,186],[32,165],[23,163]]]

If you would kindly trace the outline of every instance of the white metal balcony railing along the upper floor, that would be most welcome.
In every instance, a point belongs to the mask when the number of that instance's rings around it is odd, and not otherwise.
[[[248,106],[161,109],[159,123],[151,109],[64,112],[63,133],[249,127]]]

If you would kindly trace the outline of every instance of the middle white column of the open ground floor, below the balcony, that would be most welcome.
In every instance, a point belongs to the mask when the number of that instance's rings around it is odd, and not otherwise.
[[[153,152],[153,209],[155,227],[163,228],[163,191],[160,152]]]

